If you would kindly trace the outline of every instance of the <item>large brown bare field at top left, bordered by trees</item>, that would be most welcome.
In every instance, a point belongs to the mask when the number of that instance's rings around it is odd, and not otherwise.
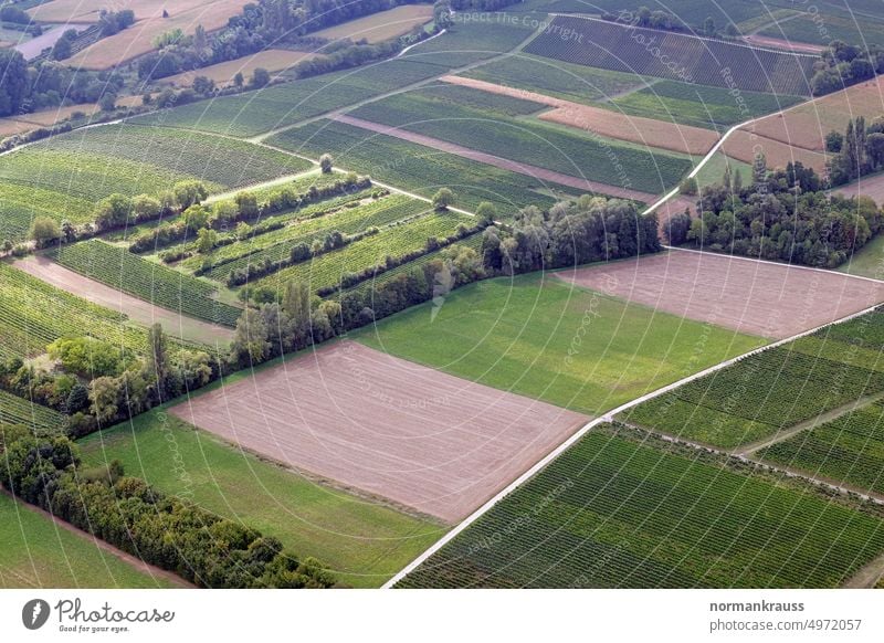
[[[103,38],[67,59],[65,63],[86,70],[108,70],[152,51],[154,39],[167,31],[180,29],[191,35],[198,24],[202,24],[206,31],[221,29],[227,25],[229,18],[240,13],[249,3],[250,0],[203,0],[193,2],[192,7],[183,11],[172,8],[169,18],[162,18],[160,9],[158,15],[138,20],[128,29]]]

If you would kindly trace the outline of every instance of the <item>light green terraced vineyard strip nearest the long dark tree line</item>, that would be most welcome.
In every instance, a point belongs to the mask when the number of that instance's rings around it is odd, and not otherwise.
[[[465,214],[431,213],[414,221],[386,228],[378,234],[284,268],[252,285],[280,292],[291,281],[309,284],[313,292],[334,287],[345,276],[382,264],[388,256],[397,257],[421,250],[425,247],[430,238],[450,236],[456,232],[459,225],[469,228],[473,224],[475,219]]]

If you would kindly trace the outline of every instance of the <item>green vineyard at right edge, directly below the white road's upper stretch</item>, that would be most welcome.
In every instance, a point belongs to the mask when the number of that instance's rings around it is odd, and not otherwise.
[[[623,419],[716,446],[751,444],[884,393],[882,346],[884,313],[869,313],[741,359]]]

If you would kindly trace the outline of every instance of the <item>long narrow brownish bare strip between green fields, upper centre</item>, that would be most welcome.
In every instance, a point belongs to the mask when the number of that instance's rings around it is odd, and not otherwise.
[[[598,192],[599,194],[607,194],[618,199],[631,199],[633,201],[641,201],[642,203],[652,203],[657,200],[656,194],[651,194],[650,192],[640,192],[639,190],[618,188],[617,186],[609,186],[608,183],[600,183],[598,181],[589,181],[578,177],[562,175],[561,172],[501,158],[498,156],[470,149],[454,143],[440,140],[431,136],[424,136],[423,134],[406,131],[404,129],[397,129],[388,125],[379,125],[377,123],[371,123],[370,120],[347,116],[345,114],[338,114],[334,117],[334,119],[339,120],[340,123],[346,123],[347,125],[352,125],[354,127],[361,127],[362,129],[367,129],[369,131],[376,131],[387,136],[394,136],[397,138],[401,138],[402,140],[417,143],[418,145],[423,145],[432,149],[454,154],[463,158],[469,158],[471,160],[494,166],[496,168],[509,170],[511,172],[518,172],[520,175],[534,177],[550,183],[559,183],[561,186],[568,186],[588,192]]]

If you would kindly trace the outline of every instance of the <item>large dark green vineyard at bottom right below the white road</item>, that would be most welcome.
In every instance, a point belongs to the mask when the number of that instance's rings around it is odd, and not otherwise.
[[[833,588],[882,550],[881,517],[601,425],[397,587]]]

